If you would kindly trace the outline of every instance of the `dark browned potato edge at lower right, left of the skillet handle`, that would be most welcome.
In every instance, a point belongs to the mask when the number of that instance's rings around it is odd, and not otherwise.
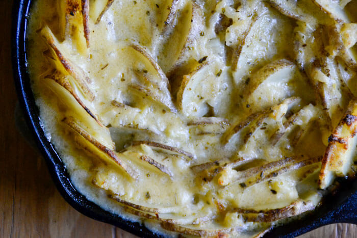
[[[233,212],[242,214],[248,222],[273,222],[297,216],[305,211],[313,209],[315,209],[315,206],[312,202],[297,200],[288,206],[276,209],[257,211],[252,209],[234,208]]]

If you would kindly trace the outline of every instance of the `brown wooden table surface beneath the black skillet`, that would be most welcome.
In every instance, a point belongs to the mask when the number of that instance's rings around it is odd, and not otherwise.
[[[42,156],[18,133],[10,60],[11,13],[12,1],[0,0],[0,237],[134,237],[68,205]],[[357,237],[357,226],[329,225],[300,237]]]

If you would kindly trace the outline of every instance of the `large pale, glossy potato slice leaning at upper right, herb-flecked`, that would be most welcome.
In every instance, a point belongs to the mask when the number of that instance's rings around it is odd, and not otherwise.
[[[235,23],[228,28],[232,35],[230,39],[233,38],[233,40],[227,40],[227,42],[232,41],[234,44],[235,36],[239,39],[238,44],[235,46],[235,56],[232,62],[232,68],[235,71],[233,76],[237,85],[242,80],[246,80],[248,77],[246,72],[257,70],[264,64],[271,62],[273,55],[279,55],[280,52],[285,50],[285,46],[278,42],[289,41],[290,37],[292,37],[292,32],[287,27],[291,22],[288,19],[281,18],[271,8],[263,6],[256,14],[257,16],[252,16],[248,22],[241,23],[248,26],[244,27],[246,29],[245,32],[233,34],[231,28],[234,28]],[[275,20],[277,18],[279,18],[278,21]],[[278,23],[273,24],[272,22]],[[274,32],[274,34],[267,34],[267,32]],[[241,39],[242,37],[243,39]]]

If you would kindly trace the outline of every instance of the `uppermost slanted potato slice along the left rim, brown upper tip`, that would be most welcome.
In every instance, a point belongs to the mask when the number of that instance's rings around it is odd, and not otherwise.
[[[80,86],[86,98],[89,101],[93,101],[95,95],[88,86],[88,84],[91,82],[89,77],[86,76],[85,72],[80,67],[73,64],[66,57],[66,50],[64,49],[64,46],[57,40],[47,25],[41,30],[41,35],[49,47],[54,51],[54,54],[57,57],[56,64],[58,68],[64,68]]]

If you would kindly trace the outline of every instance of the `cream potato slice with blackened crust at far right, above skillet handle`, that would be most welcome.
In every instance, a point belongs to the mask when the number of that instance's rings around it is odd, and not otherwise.
[[[344,177],[350,172],[357,153],[356,134],[357,101],[352,99],[345,116],[328,138],[328,146],[319,175],[321,189],[327,188],[336,176]]]

